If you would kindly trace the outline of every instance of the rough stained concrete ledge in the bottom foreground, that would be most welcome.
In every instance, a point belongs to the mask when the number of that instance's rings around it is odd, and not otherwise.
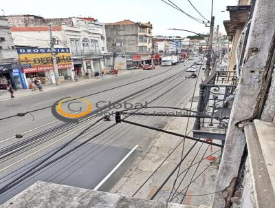
[[[165,208],[166,204],[155,200],[131,198],[120,194],[110,194],[67,185],[47,182],[36,182],[14,198],[11,198],[1,208],[30,208],[30,207],[139,207]],[[168,203],[170,208],[196,208],[187,205]]]

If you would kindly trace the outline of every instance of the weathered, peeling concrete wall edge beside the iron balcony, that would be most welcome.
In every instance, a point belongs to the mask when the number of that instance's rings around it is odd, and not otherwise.
[[[259,114],[259,101],[265,96],[263,89],[266,86],[266,73],[273,55],[271,48],[274,46],[274,7],[274,0],[256,1],[255,4],[245,64],[241,69],[219,167],[216,185],[216,191],[219,193],[214,196],[213,208],[230,205],[245,148],[242,127]]]

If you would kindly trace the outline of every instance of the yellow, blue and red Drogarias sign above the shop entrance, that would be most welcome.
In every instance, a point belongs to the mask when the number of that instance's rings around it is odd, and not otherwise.
[[[69,48],[55,48],[58,69],[72,67]],[[17,50],[23,73],[43,72],[54,70],[50,48],[21,48]]]

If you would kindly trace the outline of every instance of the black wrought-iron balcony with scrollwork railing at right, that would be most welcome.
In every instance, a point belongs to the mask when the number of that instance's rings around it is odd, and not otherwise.
[[[199,85],[199,101],[193,136],[224,141],[236,91],[236,72],[217,71]],[[202,118],[203,115],[214,116]]]

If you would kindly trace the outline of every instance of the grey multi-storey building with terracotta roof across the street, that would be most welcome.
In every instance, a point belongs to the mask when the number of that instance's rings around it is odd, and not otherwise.
[[[151,63],[153,54],[152,24],[135,23],[129,19],[105,23],[107,50],[112,56],[108,67],[128,70]]]

